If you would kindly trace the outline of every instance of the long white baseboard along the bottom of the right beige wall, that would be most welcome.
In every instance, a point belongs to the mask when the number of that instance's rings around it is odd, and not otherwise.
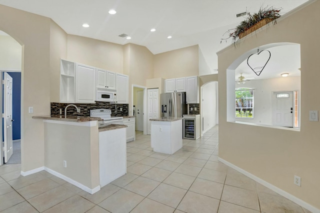
[[[295,202],[296,204],[302,206],[303,208],[313,212],[313,213],[320,213],[320,209],[314,207],[313,205],[310,205],[309,203],[297,198],[296,196],[293,196],[292,194],[282,190],[281,188],[278,188],[270,183],[268,183],[267,181],[247,172],[246,170],[236,166],[236,165],[233,165],[232,163],[222,159],[221,157],[218,157],[218,160],[220,162],[223,162],[224,164],[230,166],[231,168],[237,170],[238,172],[244,174],[245,176],[247,177],[250,177],[251,179],[255,180],[256,182],[260,183],[261,185],[264,185],[265,187],[271,189],[272,191],[284,196],[285,198]]]

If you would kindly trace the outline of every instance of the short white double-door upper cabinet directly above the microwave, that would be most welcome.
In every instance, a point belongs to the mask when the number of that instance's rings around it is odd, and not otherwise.
[[[96,68],[96,87],[115,89],[115,72]]]

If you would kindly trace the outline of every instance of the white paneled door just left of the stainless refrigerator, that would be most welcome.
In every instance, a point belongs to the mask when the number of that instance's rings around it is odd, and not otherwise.
[[[151,134],[151,118],[156,118],[159,116],[159,97],[158,97],[158,88],[148,89],[147,90],[147,134]]]

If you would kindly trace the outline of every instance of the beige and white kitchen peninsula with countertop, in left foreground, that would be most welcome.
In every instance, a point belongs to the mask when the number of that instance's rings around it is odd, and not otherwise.
[[[99,128],[99,117],[32,116],[44,123],[44,167],[93,194],[126,173],[126,125]]]

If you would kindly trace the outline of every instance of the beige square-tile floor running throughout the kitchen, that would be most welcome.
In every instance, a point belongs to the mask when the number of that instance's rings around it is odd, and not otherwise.
[[[0,166],[0,212],[309,212],[217,160],[218,126],[172,155],[150,135],[127,143],[127,173],[89,194],[20,164]]]

